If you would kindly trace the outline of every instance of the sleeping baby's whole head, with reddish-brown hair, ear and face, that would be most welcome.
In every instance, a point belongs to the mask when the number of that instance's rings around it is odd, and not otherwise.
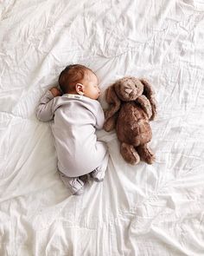
[[[61,71],[59,85],[63,94],[85,95],[92,100],[99,98],[99,82],[92,69],[74,64]]]

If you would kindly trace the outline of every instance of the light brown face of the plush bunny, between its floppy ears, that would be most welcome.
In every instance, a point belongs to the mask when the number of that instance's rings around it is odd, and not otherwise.
[[[135,77],[124,77],[115,82],[114,89],[121,101],[131,102],[143,94],[143,83]]]

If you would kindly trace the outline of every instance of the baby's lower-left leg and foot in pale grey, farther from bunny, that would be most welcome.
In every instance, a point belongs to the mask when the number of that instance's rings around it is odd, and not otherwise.
[[[81,181],[79,177],[67,177],[60,172],[61,181],[74,195],[80,195],[84,193],[85,182]]]

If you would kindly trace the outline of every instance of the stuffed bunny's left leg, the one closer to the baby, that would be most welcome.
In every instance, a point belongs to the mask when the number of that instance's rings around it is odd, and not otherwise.
[[[120,153],[122,154],[125,161],[133,164],[137,164],[140,161],[139,154],[137,154],[136,149],[127,143],[121,143]]]

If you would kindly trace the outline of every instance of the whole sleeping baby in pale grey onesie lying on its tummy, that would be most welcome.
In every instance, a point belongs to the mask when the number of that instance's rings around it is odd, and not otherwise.
[[[108,163],[105,143],[97,141],[103,128],[103,109],[97,101],[97,75],[83,65],[69,65],[59,77],[61,91],[52,88],[41,97],[36,109],[40,121],[52,121],[61,180],[72,194],[82,194],[86,174],[103,181]]]

